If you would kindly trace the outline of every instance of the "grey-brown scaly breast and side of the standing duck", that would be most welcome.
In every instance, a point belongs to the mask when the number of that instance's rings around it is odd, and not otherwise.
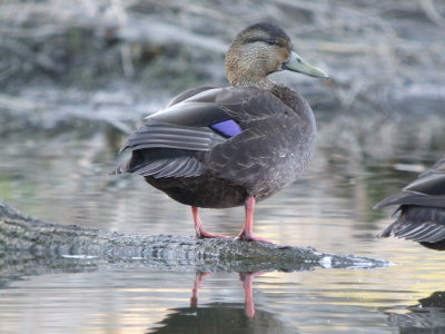
[[[310,161],[316,126],[308,104],[293,102],[298,112],[275,97],[257,105],[256,116],[241,122],[243,134],[212,148],[208,168],[258,200],[297,179]]]

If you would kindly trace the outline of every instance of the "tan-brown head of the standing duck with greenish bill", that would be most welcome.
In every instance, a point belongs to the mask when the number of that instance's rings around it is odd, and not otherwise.
[[[270,82],[267,76],[281,70],[328,78],[320,69],[304,62],[293,50],[286,32],[271,23],[256,23],[244,29],[226,55],[227,78],[233,86],[267,86]]]

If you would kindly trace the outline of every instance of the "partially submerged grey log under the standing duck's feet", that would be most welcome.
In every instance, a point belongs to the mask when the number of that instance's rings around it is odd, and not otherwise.
[[[310,247],[197,239],[172,235],[128,235],[41,222],[0,200],[0,252],[21,258],[140,262],[158,269],[201,272],[307,271],[316,267],[382,267],[386,261],[319,253]],[[22,254],[20,256],[20,254]],[[19,257],[19,258],[17,258]],[[8,262],[3,258],[3,263]],[[51,262],[51,261],[50,261]],[[48,261],[47,261],[48,263]]]

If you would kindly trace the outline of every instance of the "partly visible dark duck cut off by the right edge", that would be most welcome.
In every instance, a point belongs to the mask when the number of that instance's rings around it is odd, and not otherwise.
[[[374,208],[397,206],[398,216],[377,237],[400,237],[445,250],[445,156]]]

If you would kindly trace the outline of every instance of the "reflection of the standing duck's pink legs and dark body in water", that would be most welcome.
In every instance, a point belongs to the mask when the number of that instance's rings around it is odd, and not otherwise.
[[[274,313],[255,311],[254,277],[263,273],[240,273],[245,302],[198,304],[198,293],[205,277],[198,272],[191,289],[190,306],[170,310],[170,314],[147,333],[297,333],[288,328]]]

